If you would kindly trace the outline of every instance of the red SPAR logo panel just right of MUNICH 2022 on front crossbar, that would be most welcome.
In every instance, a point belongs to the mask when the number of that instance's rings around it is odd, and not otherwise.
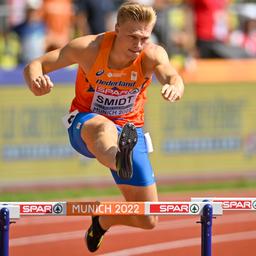
[[[189,204],[152,204],[150,205],[150,213],[189,213]]]

